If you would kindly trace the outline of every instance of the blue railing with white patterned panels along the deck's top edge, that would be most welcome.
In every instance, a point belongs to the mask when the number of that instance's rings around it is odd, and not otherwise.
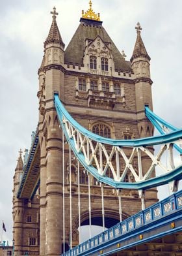
[[[89,253],[91,249],[96,249],[97,246],[100,246],[105,242],[114,240],[114,238],[119,238],[123,234],[127,234],[135,229],[138,229],[139,227],[148,225],[148,223],[151,223],[151,221],[155,221],[168,214],[172,214],[181,208],[182,191],[179,191],[170,197],[149,206],[145,210],[138,212],[134,216],[131,216],[128,219],[114,225],[114,227],[107,229],[107,231],[90,238],[79,246],[70,249],[70,251],[62,254],[62,256],[75,256],[84,255],[83,253]]]

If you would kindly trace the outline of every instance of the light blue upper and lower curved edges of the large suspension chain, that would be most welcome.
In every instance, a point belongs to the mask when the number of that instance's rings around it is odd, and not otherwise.
[[[97,142],[100,143],[105,143],[105,144],[110,144],[112,146],[133,146],[133,147],[138,147],[138,146],[153,146],[157,144],[164,144],[167,142],[172,142],[174,140],[177,140],[182,137],[182,130],[179,131],[174,131],[173,133],[168,133],[167,135],[162,135],[162,136],[154,136],[154,137],[149,137],[149,138],[141,138],[141,139],[136,139],[136,140],[112,140],[109,138],[103,138],[101,136],[95,135],[94,133],[91,133],[90,131],[87,131],[84,127],[79,125],[77,121],[73,120],[72,116],[66,111],[64,108],[63,104],[60,102],[59,96],[55,95],[55,107],[57,110],[57,114],[59,117],[60,124],[62,125],[62,129],[64,131],[64,135],[66,136],[66,139],[68,140],[73,153],[76,155],[76,157],[79,159],[80,163],[83,165],[83,167],[92,174],[99,182],[102,182],[104,184],[108,184],[112,187],[116,187],[117,189],[149,189],[151,187],[156,187],[158,185],[164,185],[168,184],[172,180],[181,180],[182,178],[182,165],[178,168],[175,168],[175,170],[172,170],[171,172],[168,172],[167,174],[157,176],[155,178],[151,178],[149,180],[144,180],[142,182],[116,182],[113,179],[107,177],[107,176],[101,176],[98,174],[97,170],[95,167],[88,166],[85,157],[83,153],[78,153],[77,150],[75,149],[75,145],[73,142],[73,139],[70,138],[68,135],[65,124],[62,121],[63,116],[66,117],[72,125],[81,131],[83,135],[88,136],[89,138],[92,138],[93,140],[96,140]],[[181,150],[182,153],[182,150]]]

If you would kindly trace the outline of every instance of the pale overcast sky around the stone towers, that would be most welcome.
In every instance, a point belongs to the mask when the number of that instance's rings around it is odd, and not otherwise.
[[[38,75],[43,42],[57,7],[66,46],[79,25],[88,0],[1,0],[0,12],[0,221],[12,240],[12,177],[19,148],[29,148],[38,122]],[[136,40],[135,25],[151,57],[153,106],[156,114],[181,127],[181,0],[93,0],[103,26],[129,60]],[[1,226],[0,226],[1,227]],[[0,229],[1,232],[1,229]],[[0,238],[1,240],[1,238]]]

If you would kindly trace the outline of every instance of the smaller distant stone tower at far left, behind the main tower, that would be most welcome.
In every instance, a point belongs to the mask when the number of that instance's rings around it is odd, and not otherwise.
[[[19,185],[23,177],[23,161],[19,152],[18,163],[14,173],[13,188],[13,241],[14,256],[39,254],[39,196],[36,194],[32,200],[17,197]]]

